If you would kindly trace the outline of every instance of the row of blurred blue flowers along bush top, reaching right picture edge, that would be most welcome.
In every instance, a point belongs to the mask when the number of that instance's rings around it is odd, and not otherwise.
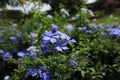
[[[103,32],[103,31],[109,31],[109,35],[111,37],[113,37],[113,36],[120,37],[120,28],[115,28],[112,25],[108,25],[106,27],[103,27],[103,26],[97,26],[95,24],[91,24],[89,26],[89,28],[88,27],[79,27],[78,29],[80,31],[84,31],[85,33],[100,32],[101,34],[104,33],[104,35],[105,35],[105,32]],[[100,29],[102,29],[102,31],[100,31]]]

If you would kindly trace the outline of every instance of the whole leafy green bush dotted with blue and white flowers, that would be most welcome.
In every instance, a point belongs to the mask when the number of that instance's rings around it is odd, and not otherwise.
[[[36,11],[17,25],[1,24],[0,79],[119,80],[120,29],[89,24],[87,17],[82,10]]]

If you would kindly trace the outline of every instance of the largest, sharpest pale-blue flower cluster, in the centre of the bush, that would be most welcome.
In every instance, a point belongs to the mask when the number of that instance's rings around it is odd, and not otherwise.
[[[64,33],[58,31],[56,25],[53,25],[52,31],[46,31],[43,34],[41,50],[43,53],[49,50],[48,45],[52,45],[52,50],[63,51],[68,50],[67,44],[76,42],[74,39]]]

